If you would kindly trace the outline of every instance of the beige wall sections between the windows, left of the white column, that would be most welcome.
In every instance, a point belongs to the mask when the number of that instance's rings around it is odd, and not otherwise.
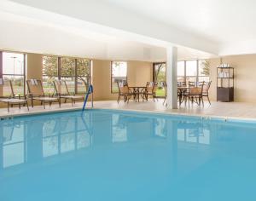
[[[27,54],[26,79],[42,79],[42,55]],[[111,93],[111,60],[93,60],[92,83],[95,100],[116,100]],[[153,64],[144,61],[127,61],[127,78],[131,86],[144,86],[153,79]]]

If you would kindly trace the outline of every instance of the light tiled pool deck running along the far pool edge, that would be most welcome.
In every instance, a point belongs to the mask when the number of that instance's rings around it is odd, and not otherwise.
[[[242,102],[212,102],[212,105],[205,104],[205,106],[193,105],[180,106],[179,109],[172,110],[167,109],[163,106],[163,100],[154,102],[153,100],[148,100],[148,102],[134,102],[130,101],[126,104],[122,101],[118,104],[115,100],[102,100],[95,101],[94,108],[99,109],[119,109],[119,110],[129,110],[129,111],[143,111],[143,112],[159,112],[159,113],[170,113],[179,115],[192,115],[192,116],[203,116],[203,117],[217,117],[217,118],[236,118],[236,119],[253,119],[256,120],[256,103],[242,103]],[[34,106],[30,107],[28,112],[26,107],[21,107],[21,109],[14,107],[10,108],[10,112],[7,112],[6,108],[0,108],[0,118],[9,118],[20,115],[31,115],[38,114],[42,112],[65,112],[70,110],[81,109],[83,103],[76,103],[72,106],[70,103],[61,104],[61,108],[53,104],[51,107],[46,106]],[[90,107],[90,103],[88,104]]]

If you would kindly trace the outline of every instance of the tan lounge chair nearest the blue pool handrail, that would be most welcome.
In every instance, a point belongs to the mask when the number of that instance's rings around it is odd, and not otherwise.
[[[64,99],[65,103],[67,100],[71,100],[72,106],[76,103],[78,100],[84,100],[84,95],[71,95],[68,88],[66,81],[58,80],[54,81],[55,91],[56,95],[59,96],[59,99]]]

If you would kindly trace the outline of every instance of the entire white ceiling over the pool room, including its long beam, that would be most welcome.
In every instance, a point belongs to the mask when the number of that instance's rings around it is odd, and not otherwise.
[[[253,54],[255,6],[253,0],[0,0],[0,49],[150,61],[166,60],[171,45],[179,59]]]

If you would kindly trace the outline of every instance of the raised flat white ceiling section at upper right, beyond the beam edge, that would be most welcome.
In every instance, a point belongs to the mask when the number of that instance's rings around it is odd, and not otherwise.
[[[256,39],[255,0],[102,0],[216,43]]]

